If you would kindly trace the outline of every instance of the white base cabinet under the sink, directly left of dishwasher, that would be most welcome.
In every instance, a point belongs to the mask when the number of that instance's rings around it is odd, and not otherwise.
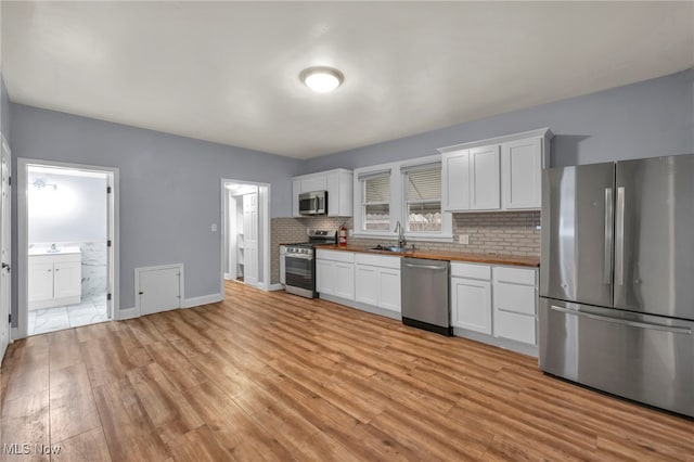
[[[355,255],[357,301],[400,312],[400,257]]]

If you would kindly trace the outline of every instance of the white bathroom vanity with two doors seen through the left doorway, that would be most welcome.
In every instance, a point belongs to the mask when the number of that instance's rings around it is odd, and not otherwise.
[[[29,248],[29,310],[79,304],[81,260],[77,246]]]

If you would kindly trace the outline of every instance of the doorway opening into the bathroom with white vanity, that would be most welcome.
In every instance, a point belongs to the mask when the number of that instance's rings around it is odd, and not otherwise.
[[[17,172],[20,332],[112,320],[117,169],[18,159]]]

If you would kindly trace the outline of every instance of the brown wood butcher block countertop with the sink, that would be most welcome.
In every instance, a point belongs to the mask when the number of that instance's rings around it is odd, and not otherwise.
[[[472,264],[486,265],[513,265],[519,267],[540,266],[540,257],[523,257],[518,255],[503,254],[463,254],[459,252],[429,252],[429,251],[410,251],[410,252],[388,252],[388,251],[371,251],[369,247],[358,245],[347,245],[340,247],[334,244],[317,245],[316,248],[324,251],[344,251],[344,252],[361,252],[375,255],[391,255],[396,257],[426,258],[429,260],[449,260],[449,261],[467,261]]]

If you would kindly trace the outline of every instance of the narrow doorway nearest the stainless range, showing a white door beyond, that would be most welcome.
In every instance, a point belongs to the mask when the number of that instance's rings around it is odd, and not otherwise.
[[[269,184],[222,180],[222,294],[223,280],[269,288]]]

